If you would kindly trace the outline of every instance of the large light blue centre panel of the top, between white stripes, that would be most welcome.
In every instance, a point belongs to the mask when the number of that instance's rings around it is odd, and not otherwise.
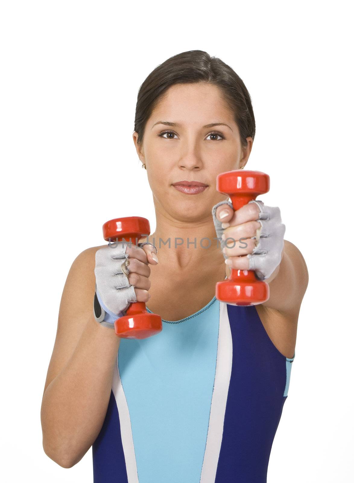
[[[148,339],[122,339],[118,369],[129,408],[139,481],[200,479],[218,349],[220,302]],[[148,309],[149,310],[149,309]],[[150,311],[149,311],[150,312]]]

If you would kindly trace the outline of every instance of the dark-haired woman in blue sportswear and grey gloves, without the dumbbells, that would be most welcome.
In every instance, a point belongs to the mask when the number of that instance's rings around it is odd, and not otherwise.
[[[69,270],[41,409],[44,451],[60,466],[93,446],[95,483],[266,482],[308,274],[279,208],[234,212],[216,190],[219,173],[245,167],[254,136],[244,83],[203,51],[169,58],[141,85],[133,139],[156,230],[139,246],[117,244],[116,256],[89,248]],[[220,250],[222,233],[244,243]],[[256,270],[269,299],[218,301],[231,268]],[[111,327],[135,300],[163,330],[120,339]]]

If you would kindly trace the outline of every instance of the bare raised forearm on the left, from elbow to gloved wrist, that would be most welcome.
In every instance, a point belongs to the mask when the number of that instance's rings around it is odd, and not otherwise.
[[[68,364],[43,395],[45,453],[64,467],[76,464],[93,444],[105,418],[120,338],[92,315]]]

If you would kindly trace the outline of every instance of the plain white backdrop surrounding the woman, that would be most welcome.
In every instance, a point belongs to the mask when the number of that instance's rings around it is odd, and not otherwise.
[[[347,5],[2,3],[3,481],[92,482],[91,450],[63,469],[42,449],[41,398],[61,293],[75,257],[103,243],[103,222],[138,214],[154,230],[151,191],[132,139],[137,91],[158,64],[194,49],[220,57],[245,82],[257,126],[247,169],[270,175],[262,199],[280,207],[285,238],[309,270],[268,482],[351,479]]]

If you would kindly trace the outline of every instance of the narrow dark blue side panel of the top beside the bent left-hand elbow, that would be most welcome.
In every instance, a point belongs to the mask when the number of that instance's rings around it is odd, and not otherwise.
[[[121,439],[121,425],[113,391],[107,414],[92,445],[94,483],[128,483]]]

